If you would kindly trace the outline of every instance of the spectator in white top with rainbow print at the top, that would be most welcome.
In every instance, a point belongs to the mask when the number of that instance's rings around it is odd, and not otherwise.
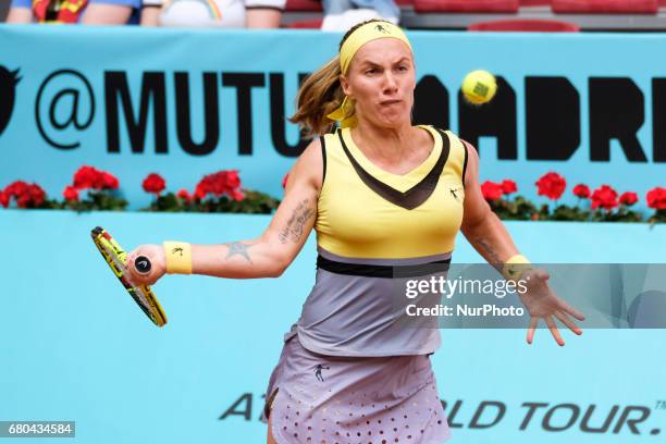
[[[144,26],[276,28],[286,0],[144,0]]]

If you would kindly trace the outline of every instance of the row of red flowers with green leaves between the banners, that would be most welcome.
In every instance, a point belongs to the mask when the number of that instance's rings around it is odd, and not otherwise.
[[[286,186],[287,175],[282,180]],[[604,184],[594,190],[585,184],[577,184],[571,193],[578,198],[575,206],[560,205],[567,188],[565,177],[548,172],[534,184],[539,196],[546,202],[533,202],[518,195],[518,185],[511,180],[501,183],[485,181],[481,184],[483,197],[491,209],[503,220],[552,220],[587,222],[666,222],[666,188],[654,187],[645,195],[646,217],[633,209],[639,196],[633,192],[618,194]],[[233,212],[269,214],[280,200],[252,189],[243,188],[237,170],[224,170],[203,176],[193,192],[166,190],[166,181],[151,173],[143,182],[146,193],[155,195],[149,207],[141,211],[164,212]],[[0,192],[0,205],[4,208],[70,209],[75,211],[123,211],[127,201],[119,190],[118,178],[106,171],[84,165],[74,173],[72,185],[62,193],[62,200],[49,199],[38,184],[16,181]]]

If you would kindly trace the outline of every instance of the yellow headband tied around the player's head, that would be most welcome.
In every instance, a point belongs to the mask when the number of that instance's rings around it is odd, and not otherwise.
[[[403,29],[395,26],[390,22],[371,22],[359,26],[343,44],[340,49],[340,69],[343,74],[347,74],[349,63],[363,45],[368,41],[377,40],[378,38],[397,38],[402,40],[411,49],[411,45],[407,39]],[[354,107],[350,101],[345,99],[342,104],[332,113],[328,114],[326,118],[341,122],[343,128],[348,126],[356,126],[356,115],[349,115],[354,111]]]

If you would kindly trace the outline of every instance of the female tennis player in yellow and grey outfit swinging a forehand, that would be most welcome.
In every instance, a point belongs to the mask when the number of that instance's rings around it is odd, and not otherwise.
[[[396,270],[451,261],[459,230],[507,280],[529,280],[527,341],[543,319],[558,344],[559,319],[581,334],[583,320],[531,268],[483,199],[479,158],[448,131],[412,126],[415,60],[405,34],[384,21],[351,28],[340,55],[309,76],[292,118],[312,140],[292,169],[284,200],[258,238],[224,245],[166,242],[140,246],[149,274],[279,276],[312,227],[316,284],[285,335],[269,381],[269,443],[422,443],[451,431],[429,355],[436,329],[395,328]],[[340,127],[334,133],[334,121]]]

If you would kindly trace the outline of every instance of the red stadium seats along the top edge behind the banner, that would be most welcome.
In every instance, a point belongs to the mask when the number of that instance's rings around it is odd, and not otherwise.
[[[666,18],[666,0],[395,0],[395,2],[402,9],[400,24],[412,29],[654,30],[663,29]],[[560,14],[566,14],[566,18]],[[560,17],[564,18],[564,23]],[[321,20],[321,1],[287,0],[283,18],[284,27],[318,28]],[[497,20],[502,22],[490,23]]]

